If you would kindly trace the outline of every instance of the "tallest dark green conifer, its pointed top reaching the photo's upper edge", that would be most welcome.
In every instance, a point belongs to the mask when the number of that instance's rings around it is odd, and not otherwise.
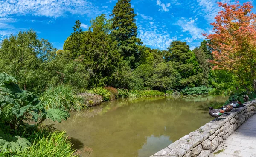
[[[137,36],[134,9],[131,0],[118,0],[110,16],[113,17],[112,34],[118,43],[118,52],[125,60],[129,61],[131,68],[138,62],[138,45],[142,42]]]

